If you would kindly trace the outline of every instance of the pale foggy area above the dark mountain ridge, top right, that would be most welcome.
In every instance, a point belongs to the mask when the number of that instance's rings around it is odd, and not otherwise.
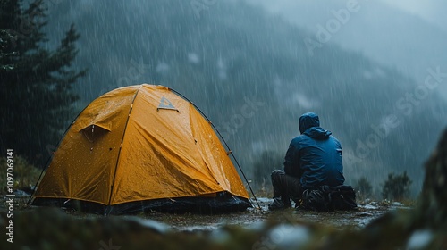
[[[447,3],[426,1],[430,5],[436,2],[438,20],[443,27],[423,18],[402,12],[383,1],[291,1],[279,0],[274,3],[266,0],[247,0],[250,4],[262,5],[275,15],[308,29],[311,37],[316,38],[319,26],[329,31],[330,41],[343,48],[355,50],[373,60],[395,67],[405,75],[422,84],[427,76],[427,68],[440,66],[447,69],[447,26],[440,12],[447,10]],[[351,3],[352,11],[348,11]],[[427,6],[429,8],[430,6]],[[446,8],[443,8],[446,7]],[[434,8],[433,6],[431,8]],[[443,10],[443,11],[441,11]],[[427,14],[426,14],[427,15]],[[445,18],[445,15],[443,15]],[[339,26],[337,26],[338,21]],[[447,96],[447,86],[438,87]]]

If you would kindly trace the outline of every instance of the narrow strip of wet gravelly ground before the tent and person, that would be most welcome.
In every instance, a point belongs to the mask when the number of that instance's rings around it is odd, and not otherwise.
[[[167,213],[145,213],[139,214],[143,222],[164,229],[174,229],[180,231],[212,231],[222,228],[226,225],[238,225],[244,228],[252,229],[262,227],[266,221],[280,221],[284,223],[316,223],[333,226],[337,229],[361,229],[370,221],[383,215],[385,212],[396,209],[410,209],[408,206],[400,203],[373,202],[358,204],[358,209],[352,211],[337,212],[312,212],[296,210],[294,208],[280,211],[269,211],[267,205],[272,202],[269,198],[257,198],[261,209],[249,208],[245,212],[234,212],[228,214],[167,214]],[[254,202],[256,205],[256,203]],[[257,206],[257,205],[256,205]]]

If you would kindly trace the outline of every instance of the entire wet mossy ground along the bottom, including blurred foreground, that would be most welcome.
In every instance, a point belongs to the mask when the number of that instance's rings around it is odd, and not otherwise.
[[[111,249],[111,246],[116,246],[114,249],[148,249],[147,246],[152,249],[301,249],[304,246],[306,249],[327,249],[325,245],[333,244],[365,246],[362,231],[371,221],[384,218],[384,213],[394,210],[412,211],[400,203],[367,201],[360,203],[358,209],[345,212],[310,212],[294,208],[272,212],[267,209],[272,199],[260,197],[257,198],[260,209],[249,208],[244,212],[148,212],[105,217],[59,208],[26,207],[26,196],[16,196],[15,201],[14,242],[18,244],[14,246],[20,247],[14,249]],[[6,207],[4,199],[0,204],[2,228],[7,226]],[[389,217],[385,219],[389,220]],[[384,232],[395,231],[400,236],[400,243],[405,242],[403,237],[408,235],[398,229],[384,229]],[[430,232],[429,236],[431,239],[434,234]],[[0,236],[0,249],[11,246],[6,243],[4,236]],[[65,248],[67,244],[73,247]]]

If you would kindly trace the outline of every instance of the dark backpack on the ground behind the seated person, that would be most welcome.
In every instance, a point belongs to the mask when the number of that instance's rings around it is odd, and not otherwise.
[[[324,185],[304,190],[301,204],[304,209],[318,212],[351,210],[357,207],[356,193],[347,185]]]

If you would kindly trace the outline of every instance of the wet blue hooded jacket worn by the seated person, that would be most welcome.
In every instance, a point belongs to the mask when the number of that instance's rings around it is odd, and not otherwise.
[[[314,112],[301,115],[299,132],[301,135],[291,140],[285,155],[285,173],[299,178],[304,189],[342,185],[342,145],[337,138],[320,127]]]

